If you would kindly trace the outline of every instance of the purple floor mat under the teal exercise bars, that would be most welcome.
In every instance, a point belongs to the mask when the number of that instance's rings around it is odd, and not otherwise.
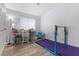
[[[36,42],[43,48],[47,48],[50,51],[54,51],[54,42],[48,39],[42,39]],[[57,53],[63,56],[79,56],[79,48],[70,46],[70,45],[64,45],[62,43],[57,42]]]

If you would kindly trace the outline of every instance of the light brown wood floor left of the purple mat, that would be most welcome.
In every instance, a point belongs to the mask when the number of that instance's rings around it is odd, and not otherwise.
[[[5,47],[2,56],[52,56],[36,43]]]

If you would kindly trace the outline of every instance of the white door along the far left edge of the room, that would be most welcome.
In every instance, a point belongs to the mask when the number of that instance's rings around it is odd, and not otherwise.
[[[5,16],[5,6],[0,4],[0,55],[6,43],[6,16]]]

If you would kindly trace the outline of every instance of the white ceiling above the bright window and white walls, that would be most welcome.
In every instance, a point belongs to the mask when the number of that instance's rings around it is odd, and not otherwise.
[[[57,3],[5,3],[6,8],[41,16],[61,4]]]

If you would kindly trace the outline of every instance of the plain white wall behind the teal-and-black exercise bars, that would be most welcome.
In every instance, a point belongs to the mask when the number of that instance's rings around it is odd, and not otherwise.
[[[79,4],[62,4],[42,15],[41,31],[52,40],[54,39],[54,25],[67,26],[68,44],[79,47]],[[61,34],[58,33],[58,35]],[[58,41],[63,42],[63,39],[58,38]]]

